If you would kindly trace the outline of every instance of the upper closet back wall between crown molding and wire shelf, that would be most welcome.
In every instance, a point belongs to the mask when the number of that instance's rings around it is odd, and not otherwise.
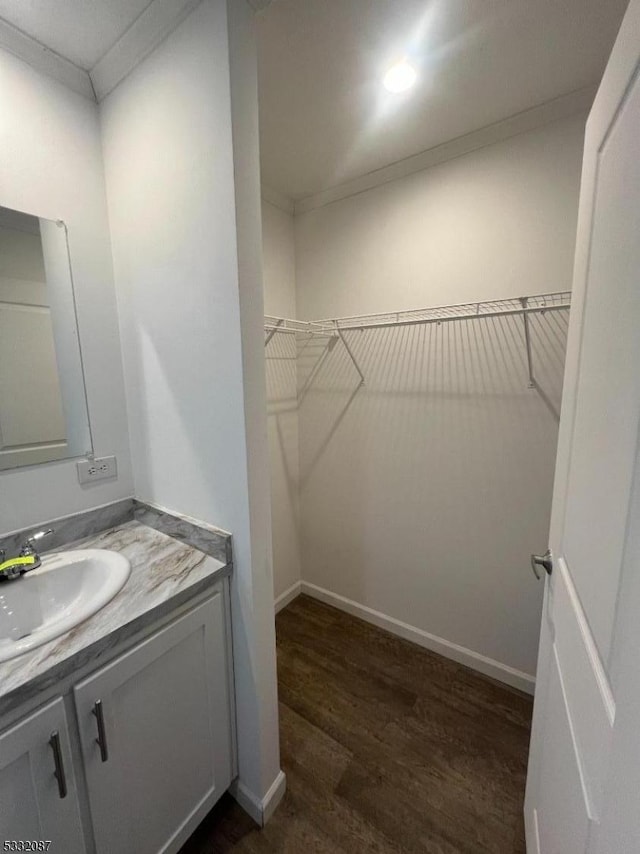
[[[300,317],[569,286],[585,118],[296,216]]]

